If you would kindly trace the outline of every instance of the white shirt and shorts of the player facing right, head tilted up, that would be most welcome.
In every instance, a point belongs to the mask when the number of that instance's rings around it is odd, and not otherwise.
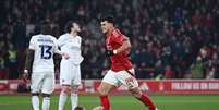
[[[60,64],[60,84],[61,85],[81,85],[80,64],[83,61],[81,51],[82,38],[64,34],[58,39],[58,45],[62,52],[70,54],[69,59],[62,59]]]

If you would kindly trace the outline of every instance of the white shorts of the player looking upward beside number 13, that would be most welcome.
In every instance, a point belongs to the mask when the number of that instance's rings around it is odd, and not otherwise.
[[[66,60],[61,61],[60,65],[60,84],[61,85],[81,85],[81,69]]]

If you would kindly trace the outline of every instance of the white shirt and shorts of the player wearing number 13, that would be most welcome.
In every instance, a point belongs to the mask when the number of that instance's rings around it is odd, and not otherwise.
[[[51,94],[54,88],[53,53],[60,52],[57,39],[50,35],[35,35],[29,41],[34,50],[32,93]]]

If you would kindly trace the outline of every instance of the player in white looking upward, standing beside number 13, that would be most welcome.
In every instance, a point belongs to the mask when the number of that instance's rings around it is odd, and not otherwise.
[[[59,98],[59,110],[63,110],[70,93],[72,110],[74,110],[78,105],[77,93],[81,85],[82,38],[77,35],[81,32],[77,23],[70,21],[65,29],[68,33],[58,39],[61,51],[70,54],[70,59],[62,59],[60,65],[60,85],[62,88]]]

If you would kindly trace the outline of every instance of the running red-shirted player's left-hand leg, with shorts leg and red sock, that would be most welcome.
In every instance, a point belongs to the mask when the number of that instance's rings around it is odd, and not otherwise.
[[[114,77],[113,72],[110,70],[107,72],[106,76],[98,87],[99,98],[104,110],[110,110],[110,101],[108,99],[108,95],[110,90],[115,86],[118,86],[118,81]]]

